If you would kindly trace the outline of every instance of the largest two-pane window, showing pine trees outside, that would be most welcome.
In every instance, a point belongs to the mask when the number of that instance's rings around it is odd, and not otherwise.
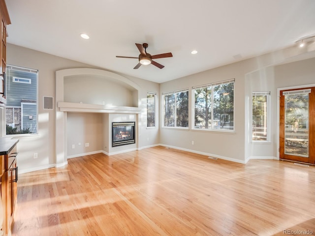
[[[234,79],[192,88],[194,129],[234,130]]]

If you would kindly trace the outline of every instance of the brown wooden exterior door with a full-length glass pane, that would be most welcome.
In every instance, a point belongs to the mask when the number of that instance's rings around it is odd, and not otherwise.
[[[314,164],[315,88],[280,92],[280,158]]]

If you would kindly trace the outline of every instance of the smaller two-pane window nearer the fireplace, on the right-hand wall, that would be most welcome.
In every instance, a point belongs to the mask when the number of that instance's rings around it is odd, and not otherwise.
[[[163,127],[188,127],[188,89],[162,93]]]

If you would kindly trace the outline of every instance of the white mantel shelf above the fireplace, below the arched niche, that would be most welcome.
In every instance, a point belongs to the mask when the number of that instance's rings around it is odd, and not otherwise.
[[[73,102],[58,102],[58,107],[61,112],[93,112],[93,113],[128,113],[139,114],[141,108],[124,107],[112,105],[98,105]]]

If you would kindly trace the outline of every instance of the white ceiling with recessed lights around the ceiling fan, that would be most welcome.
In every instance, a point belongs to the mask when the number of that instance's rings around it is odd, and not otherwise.
[[[292,46],[315,33],[315,0],[6,0],[7,42],[158,83]],[[90,35],[82,39],[80,33]],[[165,67],[142,65],[148,43]],[[198,54],[191,55],[192,50]]]

